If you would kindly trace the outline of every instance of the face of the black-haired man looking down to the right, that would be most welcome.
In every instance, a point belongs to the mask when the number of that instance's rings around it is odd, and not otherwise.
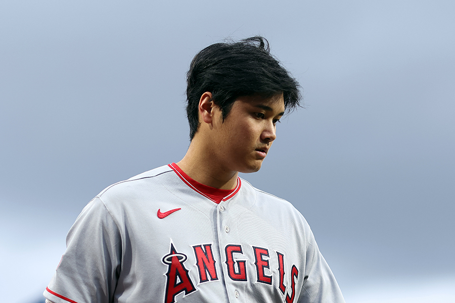
[[[228,117],[214,109],[212,151],[226,171],[257,172],[276,136],[276,124],[284,115],[283,94],[264,98],[239,97]]]

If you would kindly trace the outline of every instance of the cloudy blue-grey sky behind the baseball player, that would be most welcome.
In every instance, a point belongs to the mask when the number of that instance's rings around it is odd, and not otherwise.
[[[0,2],[0,285],[36,303],[77,215],[189,145],[203,47],[263,35],[303,87],[262,169],[346,301],[455,301],[455,2]]]

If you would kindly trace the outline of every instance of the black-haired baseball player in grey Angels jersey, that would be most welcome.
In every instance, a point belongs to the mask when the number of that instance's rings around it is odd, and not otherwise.
[[[44,291],[64,302],[344,302],[303,216],[256,172],[299,85],[262,37],[217,43],[187,78],[185,157],[83,209]]]

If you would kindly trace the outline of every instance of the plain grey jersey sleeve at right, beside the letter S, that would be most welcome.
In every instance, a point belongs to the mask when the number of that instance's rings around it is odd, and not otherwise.
[[[344,303],[340,287],[319,251],[311,229],[307,232],[307,243],[305,272],[298,302]]]

